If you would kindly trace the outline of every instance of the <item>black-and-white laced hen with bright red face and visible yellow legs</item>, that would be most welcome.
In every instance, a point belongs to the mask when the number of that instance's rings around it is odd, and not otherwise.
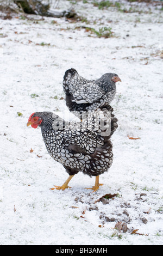
[[[52,112],[36,112],[30,115],[27,126],[41,127],[48,153],[69,174],[62,186],[55,186],[52,190],[68,188],[68,182],[78,172],[96,176],[95,186],[90,188],[93,191],[103,185],[99,184],[99,175],[106,172],[112,164],[110,137],[118,126],[111,111],[110,106],[98,108],[83,122],[71,123]]]

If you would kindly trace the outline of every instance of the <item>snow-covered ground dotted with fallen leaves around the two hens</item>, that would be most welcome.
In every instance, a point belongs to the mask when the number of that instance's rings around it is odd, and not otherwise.
[[[4,20],[0,13],[1,245],[163,242],[162,11],[119,3],[98,9],[91,1],[60,0],[59,10],[73,6],[82,17],[73,22],[22,14]],[[114,32],[110,38],[90,29],[104,27]],[[116,72],[122,80],[111,104],[119,125],[112,136],[114,162],[96,193],[85,189],[95,178],[82,173],[71,189],[49,190],[68,174],[48,155],[41,130],[26,126],[36,111],[69,117],[62,78],[72,67],[87,79]],[[96,202],[107,193],[117,196]],[[118,222],[126,223],[126,232],[115,229]]]

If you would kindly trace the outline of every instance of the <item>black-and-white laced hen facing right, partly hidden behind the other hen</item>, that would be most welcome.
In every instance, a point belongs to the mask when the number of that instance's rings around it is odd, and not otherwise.
[[[121,82],[120,77],[113,73],[106,73],[97,80],[87,80],[76,69],[68,69],[63,80],[66,106],[82,120],[83,112],[95,110],[105,103],[110,104],[118,81]]]

